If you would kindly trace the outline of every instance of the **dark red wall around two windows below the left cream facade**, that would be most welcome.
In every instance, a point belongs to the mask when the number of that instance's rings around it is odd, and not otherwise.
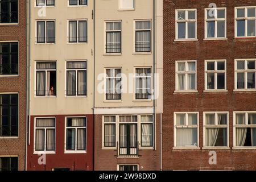
[[[85,116],[86,125],[86,154],[64,154],[65,117]],[[39,165],[39,155],[34,153],[34,121],[35,117],[56,118],[56,154],[46,154],[46,166]],[[27,170],[51,171],[53,168],[69,168],[73,170],[93,170],[93,115],[37,115],[31,116],[30,145],[28,146]]]

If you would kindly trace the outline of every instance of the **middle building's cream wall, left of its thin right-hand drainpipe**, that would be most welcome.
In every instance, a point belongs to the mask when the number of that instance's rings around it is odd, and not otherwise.
[[[118,10],[118,0],[96,1],[96,86],[101,82],[97,80],[104,68],[121,67],[122,73],[128,76],[134,73],[134,67],[153,68],[153,53],[134,54],[135,29],[134,20],[150,19],[153,23],[153,1],[135,0],[135,10]],[[105,55],[105,21],[122,20],[121,55]],[[152,26],[151,26],[152,34]],[[152,36],[153,38],[153,36]],[[151,43],[154,42],[153,40]],[[152,46],[151,46],[152,47]],[[153,51],[153,50],[152,50]],[[104,94],[97,92],[95,107],[152,107],[152,101],[134,101],[134,94],[123,93],[122,101],[104,101]],[[128,111],[129,112],[129,111]]]

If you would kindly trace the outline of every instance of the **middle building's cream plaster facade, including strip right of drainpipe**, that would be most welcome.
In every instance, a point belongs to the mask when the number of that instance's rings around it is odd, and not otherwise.
[[[96,87],[94,114],[149,114],[154,112],[154,102],[152,100],[135,100],[135,94],[129,93],[128,85],[126,86],[127,93],[122,93],[122,99],[120,101],[107,101],[105,99],[105,93],[98,92],[98,85],[103,81],[102,77],[100,79],[98,76],[104,73],[106,68],[121,68],[122,73],[129,78],[129,73],[135,73],[135,68],[137,67],[151,67],[151,73],[159,73],[159,79],[156,80],[156,85],[159,85],[159,89],[157,89],[159,97],[155,102],[155,111],[162,113],[163,47],[161,41],[163,32],[162,12],[160,11],[162,11],[163,2],[154,0],[134,0],[135,6],[133,10],[119,9],[119,0],[97,0],[95,3]],[[158,11],[159,13],[157,13]],[[105,22],[116,20],[121,21],[122,51],[116,54],[106,54]],[[151,20],[150,53],[135,53],[135,20]],[[155,28],[156,26],[160,27]],[[156,53],[156,51],[159,51],[159,53]],[[154,72],[153,69],[155,69]],[[135,87],[134,79],[132,81],[132,85]]]

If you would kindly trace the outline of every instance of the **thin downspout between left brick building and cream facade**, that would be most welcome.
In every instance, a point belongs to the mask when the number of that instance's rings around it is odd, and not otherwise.
[[[30,0],[27,0],[27,5],[26,5],[26,14],[27,14],[27,21],[26,21],[26,32],[27,32],[27,37],[26,37],[26,44],[27,44],[27,97],[26,97],[26,149],[25,149],[25,171],[27,171],[27,147],[30,145],[30,12],[31,12],[31,6],[30,6]]]

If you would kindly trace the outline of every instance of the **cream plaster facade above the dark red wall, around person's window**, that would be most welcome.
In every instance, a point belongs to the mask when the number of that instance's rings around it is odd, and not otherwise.
[[[88,6],[69,6],[56,0],[55,6],[36,7],[30,1],[30,115],[93,113],[93,0]],[[42,16],[43,15],[43,16]],[[45,15],[45,16],[44,16]],[[36,43],[36,20],[55,20],[55,43]],[[87,20],[87,43],[68,43],[68,20]],[[56,60],[56,97],[36,96],[36,61]],[[87,96],[67,97],[65,64],[68,60],[87,61]]]

